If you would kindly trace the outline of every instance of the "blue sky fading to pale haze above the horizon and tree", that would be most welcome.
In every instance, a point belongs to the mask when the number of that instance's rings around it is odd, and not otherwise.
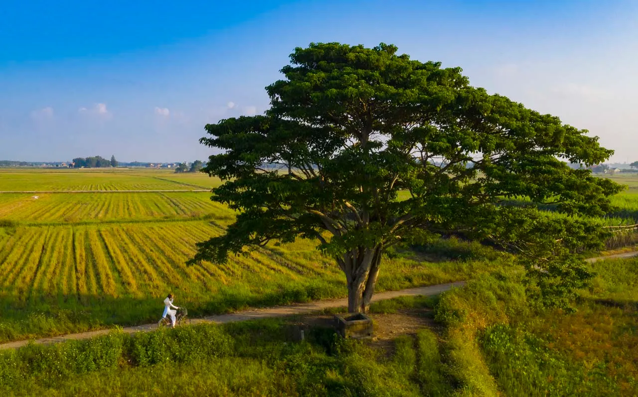
[[[8,3],[8,2],[6,2]],[[393,43],[637,161],[631,1],[23,1],[0,13],[0,159],[192,161],[295,47]]]

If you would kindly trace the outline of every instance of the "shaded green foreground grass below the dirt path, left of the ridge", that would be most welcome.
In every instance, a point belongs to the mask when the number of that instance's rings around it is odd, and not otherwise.
[[[452,387],[436,336],[392,356],[315,328],[295,342],[281,320],[192,326],[0,352],[11,395],[440,396]]]

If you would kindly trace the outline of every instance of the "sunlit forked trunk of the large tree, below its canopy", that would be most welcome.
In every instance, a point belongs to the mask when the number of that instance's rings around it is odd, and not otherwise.
[[[367,313],[370,307],[376,279],[379,275],[382,248],[360,249],[359,254],[349,252],[343,257],[348,283],[348,313]]]

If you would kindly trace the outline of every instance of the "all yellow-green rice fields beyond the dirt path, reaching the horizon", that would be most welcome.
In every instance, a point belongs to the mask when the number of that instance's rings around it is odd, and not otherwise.
[[[308,240],[187,267],[195,243],[234,219],[208,192],[190,191],[218,183],[165,170],[0,170],[0,191],[14,191],[0,194],[0,341],[155,321],[169,292],[193,315],[345,296],[345,277]],[[65,192],[76,189],[93,192]],[[178,191],[148,191],[158,189]],[[54,192],[15,192],[27,190]],[[614,200],[630,215],[635,198]],[[489,266],[386,258],[377,289],[463,280]]]

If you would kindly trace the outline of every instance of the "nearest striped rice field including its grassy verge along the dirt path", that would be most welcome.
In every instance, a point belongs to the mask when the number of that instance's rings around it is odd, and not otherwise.
[[[0,341],[156,321],[169,292],[193,315],[345,296],[345,277],[299,240],[184,263],[223,229],[201,220],[0,227]],[[486,264],[388,259],[378,290],[461,280]]]

